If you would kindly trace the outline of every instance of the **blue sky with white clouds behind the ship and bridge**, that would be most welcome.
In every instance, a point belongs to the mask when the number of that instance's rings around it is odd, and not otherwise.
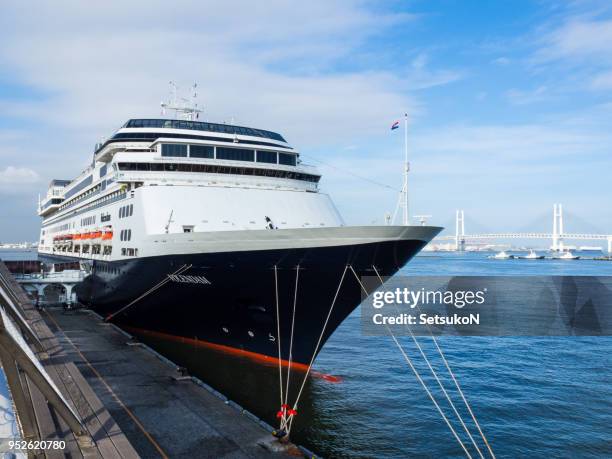
[[[412,214],[544,231],[562,202],[569,231],[612,233],[606,2],[0,8],[0,241],[35,240],[49,180],[76,176],[126,119],[159,116],[169,80],[197,81],[211,121],[283,133],[349,223],[393,210],[393,190],[355,175],[401,185],[389,127],[407,111]]]

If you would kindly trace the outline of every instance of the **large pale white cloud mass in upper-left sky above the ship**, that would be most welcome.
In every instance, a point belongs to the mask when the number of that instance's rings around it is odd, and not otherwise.
[[[334,68],[370,36],[412,20],[364,5],[54,2],[41,3],[36,15],[13,5],[3,11],[10,20],[0,57],[24,84],[51,96],[3,106],[88,132],[94,143],[129,117],[156,116],[176,79],[199,83],[211,120],[281,130],[303,146],[367,135],[396,113],[414,114],[409,89],[454,75],[418,75],[412,85],[388,71]]]

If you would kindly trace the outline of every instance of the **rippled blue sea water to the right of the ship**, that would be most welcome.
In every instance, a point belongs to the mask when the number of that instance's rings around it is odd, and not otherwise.
[[[487,255],[422,254],[400,274],[612,275],[609,261]],[[411,338],[399,339],[478,457]],[[419,339],[445,386],[454,387],[431,341]],[[441,337],[439,343],[497,457],[612,457],[612,338]],[[391,338],[361,334],[359,309],[331,337],[316,366],[342,382],[312,381],[313,419],[294,434],[297,441],[327,457],[465,457]],[[456,391],[449,394],[470,419]],[[473,423],[467,424],[477,439]],[[482,441],[478,445],[484,453]]]

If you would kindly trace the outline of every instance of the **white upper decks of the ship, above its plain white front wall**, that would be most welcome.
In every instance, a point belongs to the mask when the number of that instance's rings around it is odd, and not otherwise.
[[[299,153],[276,132],[179,119],[130,119],[96,148],[94,161],[82,174],[53,187],[40,203],[39,215],[63,214],[121,184],[170,181],[316,191],[319,179],[316,169],[302,164]]]

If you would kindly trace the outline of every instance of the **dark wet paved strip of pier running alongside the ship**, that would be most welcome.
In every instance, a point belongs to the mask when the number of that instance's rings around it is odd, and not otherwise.
[[[49,308],[42,317],[142,457],[304,457],[99,316]]]

